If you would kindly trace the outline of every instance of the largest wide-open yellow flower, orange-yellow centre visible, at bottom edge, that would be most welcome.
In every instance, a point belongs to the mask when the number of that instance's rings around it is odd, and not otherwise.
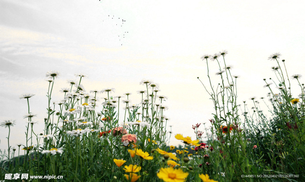
[[[181,169],[161,168],[157,176],[165,182],[184,182],[188,177],[188,173],[184,173]]]

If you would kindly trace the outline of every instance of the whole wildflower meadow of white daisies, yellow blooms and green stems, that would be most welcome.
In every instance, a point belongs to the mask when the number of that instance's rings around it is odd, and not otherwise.
[[[20,143],[10,142],[11,130],[20,118],[0,124],[1,131],[9,131],[6,138],[0,138],[7,142],[7,149],[1,151],[0,180],[305,181],[302,76],[289,75],[281,54],[272,54],[268,59],[276,65],[271,68],[274,78],[261,80],[268,89],[267,98],[249,96],[241,101],[239,76],[226,62],[227,54],[206,54],[198,60],[198,65],[205,66],[198,84],[210,96],[206,107],[214,111],[210,118],[203,118],[211,127],[200,122],[185,124],[196,138],[172,133],[167,126],[167,96],[160,95],[162,86],[151,80],[143,79],[138,93],[117,95],[114,88],[87,91],[83,82],[88,75],[76,73],[59,90],[62,100],[53,101],[52,94],[58,92],[53,89],[56,80],[67,78],[61,78],[59,71],[48,71],[44,102],[48,105],[39,103],[46,106],[44,121],[40,121],[43,131],[33,127],[37,115],[30,106],[38,104],[31,102],[35,93],[20,93],[20,104],[28,107],[20,111],[27,119]],[[213,76],[211,65],[219,68]],[[292,93],[292,88],[299,92]],[[107,97],[100,98],[100,93]],[[131,94],[140,94],[141,102],[133,104]],[[181,145],[169,145],[171,135]]]

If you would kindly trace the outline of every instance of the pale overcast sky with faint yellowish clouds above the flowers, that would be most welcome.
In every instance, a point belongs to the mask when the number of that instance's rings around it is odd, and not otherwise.
[[[58,70],[53,100],[74,73],[86,73],[86,90],[115,88],[114,96],[144,89],[142,79],[160,85],[168,97],[173,135],[195,139],[192,125],[212,118],[204,54],[228,50],[226,63],[239,75],[238,103],[266,96],[264,78],[274,78],[267,60],[280,52],[288,75],[302,74],[305,63],[304,1],[0,1],[0,122],[16,120],[10,144],[25,144],[26,100],[37,114],[34,131],[43,133],[48,82],[45,73]],[[223,63],[223,62],[221,62]],[[217,63],[210,62],[210,73]],[[219,77],[212,76],[217,85]],[[302,82],[303,80],[300,79]],[[296,84],[296,82],[294,83]],[[275,87],[275,86],[274,86]],[[297,86],[295,86],[297,87]],[[296,93],[295,95],[298,95]],[[104,97],[104,95],[100,95]],[[248,102],[247,101],[247,102]],[[249,107],[251,103],[249,102]],[[205,131],[200,126],[199,130]],[[0,128],[0,149],[7,149],[8,128]],[[181,144],[173,135],[171,145]],[[16,146],[15,146],[16,147]]]

